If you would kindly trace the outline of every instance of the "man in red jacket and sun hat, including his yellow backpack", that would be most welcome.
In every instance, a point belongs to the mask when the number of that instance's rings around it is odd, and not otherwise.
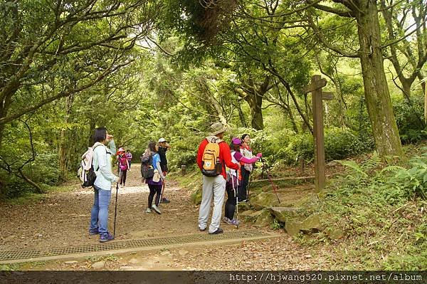
[[[200,143],[197,152],[197,165],[204,174],[199,209],[199,230],[206,230],[211,211],[211,201],[214,197],[214,211],[209,226],[210,234],[223,233],[219,223],[226,191],[226,166],[230,169],[241,167],[240,164],[231,162],[230,147],[222,140],[224,132],[226,132],[226,128],[222,123],[215,122],[211,125],[211,135]]]

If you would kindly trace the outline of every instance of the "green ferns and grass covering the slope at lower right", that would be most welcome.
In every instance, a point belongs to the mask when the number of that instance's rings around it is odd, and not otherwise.
[[[427,148],[400,165],[374,154],[334,179],[316,209],[326,228],[342,230],[331,241],[323,232],[301,236],[306,244],[332,248],[331,269],[425,270],[427,268]],[[326,230],[327,231],[327,230]]]

